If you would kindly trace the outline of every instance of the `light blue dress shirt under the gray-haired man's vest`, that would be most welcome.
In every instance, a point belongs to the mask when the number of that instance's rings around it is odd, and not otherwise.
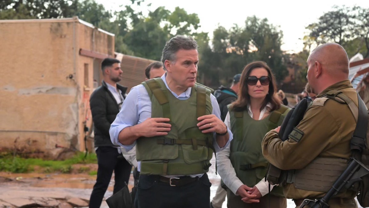
[[[165,83],[166,88],[179,100],[186,100],[191,95],[191,87],[187,88],[186,91],[181,93],[180,95],[177,95],[172,90],[169,89],[168,84],[165,80],[166,73],[163,74],[161,77],[162,80]],[[210,95],[211,99],[211,105],[213,106],[213,112],[216,117],[218,117],[220,120],[220,110],[219,105],[217,103],[217,99],[214,97],[214,95]],[[121,132],[124,128],[131,127],[137,124],[140,124],[144,122],[146,119],[151,118],[151,100],[149,97],[148,92],[146,91],[146,88],[144,85],[140,84],[135,87],[133,87],[128,93],[127,97],[125,98],[122,108],[120,112],[118,113],[117,117],[115,118],[114,122],[110,126],[110,139],[111,142],[113,142],[114,145],[120,145],[125,148],[125,150],[130,151],[136,144],[136,141],[131,145],[123,145],[118,141],[118,135],[119,132]],[[214,132],[214,140],[213,145],[215,148],[215,152],[219,152],[223,150],[227,145],[231,142],[233,135],[232,132],[228,129],[229,134],[229,140],[225,144],[223,148],[220,148],[215,141],[215,132]],[[138,170],[141,169],[141,164],[138,161]],[[201,176],[199,175],[193,175],[193,176]]]

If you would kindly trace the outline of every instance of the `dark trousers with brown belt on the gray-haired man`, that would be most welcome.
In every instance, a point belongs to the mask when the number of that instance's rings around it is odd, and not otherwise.
[[[138,208],[210,208],[211,183],[207,174],[199,180],[175,187],[159,181],[158,175],[140,175]]]

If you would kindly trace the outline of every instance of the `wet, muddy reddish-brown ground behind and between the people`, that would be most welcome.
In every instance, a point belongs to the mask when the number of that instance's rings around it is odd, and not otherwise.
[[[212,159],[215,165],[215,158]],[[220,177],[215,175],[212,165],[208,172],[213,184],[210,197],[213,198],[219,185]],[[60,173],[27,173],[13,174],[0,172],[0,207],[88,207],[90,194],[96,180],[96,175],[88,172],[78,173],[80,166],[73,166],[71,174]],[[88,164],[90,171],[97,170],[97,164]],[[113,194],[114,175],[105,194],[105,199]],[[133,186],[131,175],[129,188]],[[294,203],[287,199],[287,208],[294,208]],[[223,208],[227,207],[223,203]],[[108,208],[105,200],[101,208]]]

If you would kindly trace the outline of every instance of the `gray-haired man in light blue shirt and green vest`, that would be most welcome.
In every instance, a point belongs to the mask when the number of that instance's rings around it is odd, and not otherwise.
[[[232,133],[211,90],[196,83],[197,43],[177,35],[162,52],[166,73],[133,87],[110,127],[113,144],[136,145],[139,208],[210,207],[206,172]]]

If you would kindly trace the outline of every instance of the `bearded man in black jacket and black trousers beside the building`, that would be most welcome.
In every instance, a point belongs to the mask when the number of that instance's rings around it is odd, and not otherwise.
[[[121,148],[110,140],[109,128],[126,97],[127,87],[117,84],[123,71],[120,61],[105,58],[101,63],[102,85],[90,97],[94,123],[94,145],[97,155],[97,178],[90,197],[90,208],[99,208],[114,171],[113,194],[128,184],[132,166],[121,155]]]

